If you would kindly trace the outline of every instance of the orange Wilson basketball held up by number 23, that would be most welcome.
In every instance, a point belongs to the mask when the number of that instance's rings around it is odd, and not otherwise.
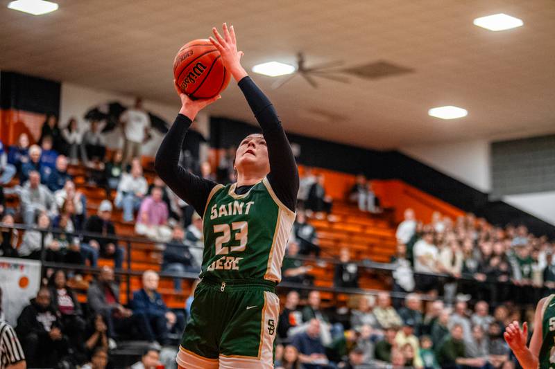
[[[173,61],[176,84],[190,98],[213,98],[228,87],[230,73],[208,39],[195,39],[179,49]]]

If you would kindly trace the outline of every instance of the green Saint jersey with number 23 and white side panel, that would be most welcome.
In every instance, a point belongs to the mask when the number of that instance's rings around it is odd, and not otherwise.
[[[208,197],[200,278],[280,282],[295,213],[282,204],[266,178],[244,195],[235,194],[236,186],[217,185]]]

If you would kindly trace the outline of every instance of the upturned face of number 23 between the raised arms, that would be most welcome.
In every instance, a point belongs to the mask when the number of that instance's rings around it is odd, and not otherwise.
[[[235,168],[237,172],[255,170],[257,172],[270,172],[268,147],[262,134],[246,136],[237,147],[235,153]]]

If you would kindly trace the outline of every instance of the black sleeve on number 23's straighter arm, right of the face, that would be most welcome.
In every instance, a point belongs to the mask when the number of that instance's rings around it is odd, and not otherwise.
[[[240,80],[239,88],[243,91],[250,109],[255,114],[262,128],[266,145],[268,145],[270,159],[268,181],[278,199],[287,208],[295,211],[299,190],[299,172],[280,118],[270,100],[250,77],[247,76]]]

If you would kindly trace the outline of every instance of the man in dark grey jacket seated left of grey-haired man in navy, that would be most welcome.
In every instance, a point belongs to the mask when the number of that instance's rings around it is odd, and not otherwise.
[[[133,328],[138,330],[138,336],[149,337],[150,327],[144,317],[133,316],[133,311],[126,309],[119,303],[119,286],[114,283],[114,270],[102,267],[96,281],[87,289],[87,302],[92,314],[101,314],[108,325],[108,336],[117,339],[118,334],[133,334]]]

